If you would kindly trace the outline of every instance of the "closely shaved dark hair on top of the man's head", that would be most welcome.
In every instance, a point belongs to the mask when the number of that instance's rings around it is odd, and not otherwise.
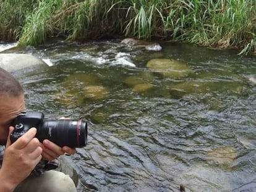
[[[11,73],[0,67],[0,96],[17,97],[23,94],[23,88]]]

